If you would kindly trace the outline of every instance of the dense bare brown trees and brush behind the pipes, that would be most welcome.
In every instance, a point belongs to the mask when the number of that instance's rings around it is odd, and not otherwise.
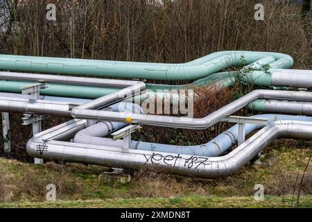
[[[265,20],[255,21],[252,0],[0,0],[0,53],[186,62],[244,49],[311,66],[309,1],[276,2],[262,1]],[[46,20],[48,3],[57,6],[56,22]]]

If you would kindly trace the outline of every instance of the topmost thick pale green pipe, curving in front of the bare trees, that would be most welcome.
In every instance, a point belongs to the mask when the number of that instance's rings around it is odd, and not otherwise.
[[[281,68],[291,67],[293,58],[281,53],[223,51],[212,53],[184,64],[150,62],[119,62],[0,55],[0,69],[10,71],[37,71],[53,74],[110,76],[114,78],[141,78],[154,80],[198,80],[227,67],[250,65],[263,58],[274,59]]]

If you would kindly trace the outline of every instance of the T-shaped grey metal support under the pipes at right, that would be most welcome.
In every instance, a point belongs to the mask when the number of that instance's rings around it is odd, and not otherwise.
[[[238,116],[229,116],[221,119],[221,121],[226,121],[229,123],[238,123],[239,124],[239,138],[238,138],[238,146],[245,142],[245,123],[257,124],[257,125],[266,125],[268,123],[268,119],[259,119],[252,117],[238,117]]]

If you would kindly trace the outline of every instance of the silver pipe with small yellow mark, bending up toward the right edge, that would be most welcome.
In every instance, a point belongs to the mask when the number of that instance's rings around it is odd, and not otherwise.
[[[103,97],[102,97],[103,98]],[[312,101],[312,92],[295,92],[258,89],[242,96],[240,99],[225,105],[207,117],[194,119],[189,117],[166,117],[153,114],[135,114],[126,112],[110,112],[103,110],[87,110],[87,106],[79,106],[71,111],[71,117],[76,119],[98,119],[101,121],[121,121],[139,123],[151,126],[166,126],[170,128],[205,129],[218,123],[220,119],[241,110],[256,99],[288,99],[296,101]],[[101,98],[98,101],[102,101]],[[104,100],[103,100],[104,101]],[[110,98],[110,101],[114,99]],[[93,104],[93,103],[92,103]],[[93,105],[94,107],[94,105]]]

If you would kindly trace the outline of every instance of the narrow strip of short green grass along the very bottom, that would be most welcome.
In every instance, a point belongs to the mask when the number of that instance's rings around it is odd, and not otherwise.
[[[180,198],[132,198],[132,199],[106,199],[106,200],[76,200],[55,201],[43,203],[11,203],[0,204],[0,207],[78,207],[78,208],[168,208],[168,207],[291,207],[292,197],[281,198],[277,196],[265,196],[264,200],[257,201],[252,197],[218,198],[214,196],[187,196]],[[297,205],[296,198],[293,199],[293,207],[312,207],[312,196],[300,198]]]

